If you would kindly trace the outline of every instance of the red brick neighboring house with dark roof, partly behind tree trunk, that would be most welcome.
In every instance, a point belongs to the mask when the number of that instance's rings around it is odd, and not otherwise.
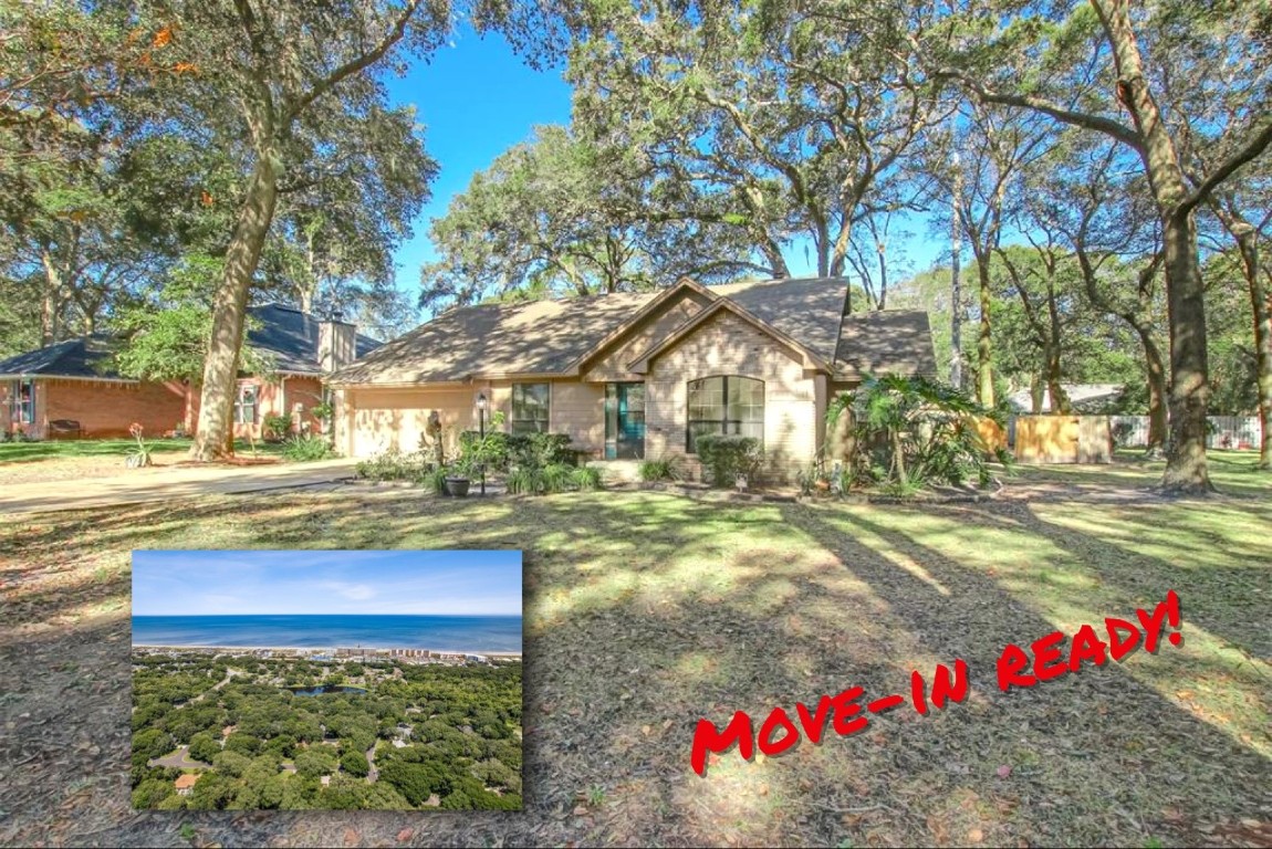
[[[239,379],[235,436],[259,438],[266,416],[293,416],[315,426],[309,409],[323,399],[323,374],[370,353],[379,342],[352,324],[322,320],[280,304],[253,306],[247,344],[273,363],[268,375]],[[0,361],[0,431],[28,436],[118,437],[137,422],[148,435],[192,432],[198,393],[187,381],[122,377],[112,369],[114,341],[106,334],[67,339]],[[79,433],[57,432],[74,421]]]

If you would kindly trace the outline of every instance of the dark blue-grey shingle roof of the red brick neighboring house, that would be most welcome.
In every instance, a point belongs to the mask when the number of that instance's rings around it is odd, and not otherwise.
[[[256,319],[256,327],[247,332],[247,344],[270,355],[277,371],[322,374],[318,363],[321,319],[281,304],[252,306],[248,315]],[[378,341],[368,336],[355,337],[359,357],[379,346]],[[0,361],[0,375],[120,380],[120,375],[109,369],[112,350],[113,339],[104,333],[67,339]]]

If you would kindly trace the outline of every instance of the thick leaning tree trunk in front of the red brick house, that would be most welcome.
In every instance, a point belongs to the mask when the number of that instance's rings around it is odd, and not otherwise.
[[[239,352],[247,318],[248,292],[265,247],[277,201],[277,170],[272,150],[261,151],[239,210],[234,236],[225,253],[225,275],[212,304],[212,338],[207,346],[200,395],[198,431],[191,458],[210,461],[234,452],[230,422],[238,388]]]

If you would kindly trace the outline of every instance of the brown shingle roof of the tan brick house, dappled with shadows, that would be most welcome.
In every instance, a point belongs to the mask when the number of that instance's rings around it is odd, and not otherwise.
[[[710,291],[826,362],[836,362],[836,371],[935,372],[926,313],[870,313],[841,320],[846,286],[840,278],[812,277]],[[454,309],[337,371],[332,381],[407,385],[565,374],[655,297],[655,292],[621,294]]]

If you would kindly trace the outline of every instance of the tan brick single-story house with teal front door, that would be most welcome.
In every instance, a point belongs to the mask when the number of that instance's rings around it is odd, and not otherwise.
[[[415,451],[438,413],[450,450],[477,399],[511,432],[569,433],[594,458],[682,455],[709,432],[761,440],[789,479],[827,445],[829,399],[868,372],[934,375],[927,314],[845,314],[842,278],[701,286],[455,309],[329,377],[336,447]],[[488,419],[487,419],[488,421]],[[842,444],[831,435],[831,455]]]

